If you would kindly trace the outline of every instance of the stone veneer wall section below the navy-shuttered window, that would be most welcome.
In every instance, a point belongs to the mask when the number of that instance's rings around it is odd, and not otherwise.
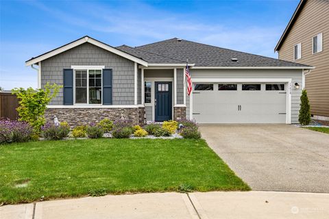
[[[71,127],[98,123],[103,118],[132,120],[134,125],[144,125],[144,107],[136,108],[48,108],[45,112],[47,122],[57,116],[60,122],[66,121]],[[143,118],[143,120],[142,120]]]

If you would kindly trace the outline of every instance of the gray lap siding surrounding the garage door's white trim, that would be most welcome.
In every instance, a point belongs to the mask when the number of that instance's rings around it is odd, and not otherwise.
[[[202,79],[218,79],[218,78],[245,78],[245,79],[260,79],[260,78],[278,78],[292,79],[292,84],[295,82],[302,84],[302,70],[206,70],[199,69],[190,70],[192,80],[195,78]],[[302,89],[291,89],[291,123],[298,123],[298,114],[300,111],[300,95]],[[187,95],[187,94],[186,94]],[[189,118],[190,99],[186,96],[186,118]]]

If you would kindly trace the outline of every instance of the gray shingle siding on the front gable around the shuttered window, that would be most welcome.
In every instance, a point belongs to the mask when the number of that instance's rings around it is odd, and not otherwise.
[[[71,66],[105,66],[113,69],[113,105],[134,104],[134,62],[96,47],[88,42],[41,62],[41,85],[63,84],[63,68]],[[62,105],[63,92],[50,105]]]

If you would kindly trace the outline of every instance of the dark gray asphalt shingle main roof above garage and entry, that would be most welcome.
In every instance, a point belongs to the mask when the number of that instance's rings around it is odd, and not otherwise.
[[[178,40],[178,38],[154,42],[140,47],[123,45],[117,47],[117,49],[141,57],[149,63],[184,63],[188,59],[188,63],[194,63],[195,66],[306,66],[208,44]],[[238,62],[232,62],[232,58],[237,58]]]

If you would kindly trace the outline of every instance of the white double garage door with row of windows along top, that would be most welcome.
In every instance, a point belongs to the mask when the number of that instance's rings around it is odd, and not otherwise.
[[[195,83],[197,123],[286,123],[285,83]]]

